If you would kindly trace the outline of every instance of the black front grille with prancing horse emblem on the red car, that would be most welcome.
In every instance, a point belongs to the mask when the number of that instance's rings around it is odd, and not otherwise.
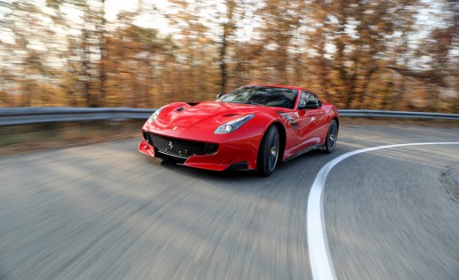
[[[181,140],[172,137],[143,132],[143,137],[157,151],[170,156],[188,158],[189,156],[212,155],[218,149],[218,145],[191,140]]]

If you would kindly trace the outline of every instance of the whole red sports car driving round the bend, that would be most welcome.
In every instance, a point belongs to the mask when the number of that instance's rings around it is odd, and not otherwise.
[[[279,159],[315,148],[332,152],[338,128],[336,107],[309,90],[246,85],[215,101],[158,108],[143,125],[139,150],[186,166],[269,176]]]

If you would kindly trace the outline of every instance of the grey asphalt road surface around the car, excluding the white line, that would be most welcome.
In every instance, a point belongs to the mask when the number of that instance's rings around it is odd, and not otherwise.
[[[320,168],[358,148],[459,141],[459,129],[343,126],[269,178],[138,153],[140,139],[0,157],[0,279],[312,279]],[[351,156],[326,180],[337,279],[459,279],[459,145]],[[313,229],[311,229],[313,230]]]

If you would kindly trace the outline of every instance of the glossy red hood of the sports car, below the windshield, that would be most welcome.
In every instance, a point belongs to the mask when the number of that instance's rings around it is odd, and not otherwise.
[[[276,111],[284,109],[219,101],[201,102],[195,106],[175,103],[159,114],[157,124],[161,128],[199,126],[214,129],[240,116]]]

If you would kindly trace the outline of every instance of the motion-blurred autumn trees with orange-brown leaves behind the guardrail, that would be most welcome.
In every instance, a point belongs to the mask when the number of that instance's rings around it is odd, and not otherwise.
[[[0,107],[158,108],[242,84],[459,113],[456,0],[2,0]]]

